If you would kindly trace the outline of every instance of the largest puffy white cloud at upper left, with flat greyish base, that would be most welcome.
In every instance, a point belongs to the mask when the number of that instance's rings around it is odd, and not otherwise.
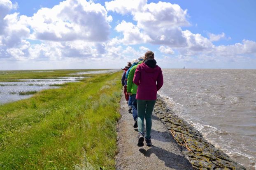
[[[24,18],[33,29],[31,38],[49,41],[106,41],[110,32],[105,7],[85,0],[66,0]]]

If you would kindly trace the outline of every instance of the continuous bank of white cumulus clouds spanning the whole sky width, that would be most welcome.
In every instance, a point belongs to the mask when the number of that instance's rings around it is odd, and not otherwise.
[[[16,7],[10,0],[0,0],[1,59],[125,65],[149,50],[147,43],[159,47],[163,62],[239,62],[256,57],[254,41],[215,46],[212,42],[229,39],[225,33],[204,37],[183,30],[190,25],[187,10],[170,2],[112,0],[104,7],[93,0],[65,0],[31,17],[9,14]],[[112,30],[120,35],[112,39],[109,23],[113,18],[108,11],[133,19],[118,23]],[[134,46],[141,43],[144,46]]]

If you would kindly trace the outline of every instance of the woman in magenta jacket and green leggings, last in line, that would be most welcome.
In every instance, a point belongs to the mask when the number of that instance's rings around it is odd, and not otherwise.
[[[163,86],[163,74],[159,66],[154,60],[154,53],[148,51],[145,53],[145,59],[135,71],[133,82],[137,88],[137,108],[138,108],[138,146],[144,145],[144,129],[143,122],[146,120],[146,136],[147,146],[151,146],[151,126],[152,112],[156,103],[156,93]]]

